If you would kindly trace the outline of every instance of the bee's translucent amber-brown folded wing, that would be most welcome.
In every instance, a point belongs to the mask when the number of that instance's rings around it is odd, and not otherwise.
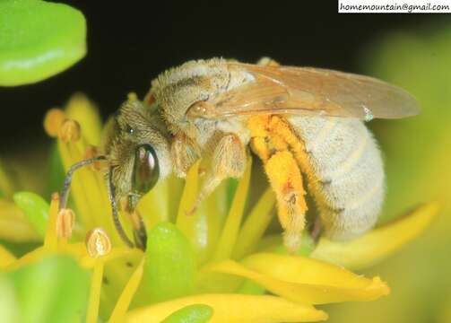
[[[403,118],[420,112],[403,89],[358,74],[291,66],[229,63],[253,81],[208,100],[206,118],[255,114]],[[205,116],[204,116],[205,117]]]

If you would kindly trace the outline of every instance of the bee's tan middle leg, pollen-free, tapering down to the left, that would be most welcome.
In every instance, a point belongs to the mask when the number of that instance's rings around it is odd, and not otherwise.
[[[206,171],[195,205],[188,214],[193,214],[223,179],[240,178],[246,170],[246,162],[246,149],[239,137],[232,134],[222,136],[212,153],[212,164]]]

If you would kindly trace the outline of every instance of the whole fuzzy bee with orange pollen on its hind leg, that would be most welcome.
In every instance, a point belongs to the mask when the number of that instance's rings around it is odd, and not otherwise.
[[[184,178],[207,162],[193,210],[222,180],[240,178],[249,154],[263,162],[277,201],[288,249],[306,226],[306,185],[319,212],[312,234],[350,240],[377,222],[385,195],[381,153],[364,122],[419,113],[403,89],[375,78],[333,70],[256,65],[222,58],[189,61],[152,81],[141,100],[127,100],[110,124],[104,155],[117,231],[127,245],[145,248],[143,221],[134,243],[118,220],[117,201],[133,212],[169,174]],[[191,210],[191,212],[193,211]]]

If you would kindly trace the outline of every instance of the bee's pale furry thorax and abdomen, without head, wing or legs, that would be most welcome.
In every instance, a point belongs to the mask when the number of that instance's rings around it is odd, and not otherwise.
[[[161,74],[152,90],[160,100],[169,128],[174,134],[183,132],[190,137],[202,157],[214,149],[217,133],[233,133],[242,144],[249,144],[249,116],[189,122],[187,109],[198,100],[252,82],[252,75],[230,69],[222,59],[212,59],[188,62]],[[346,240],[368,231],[377,221],[385,186],[381,156],[367,127],[358,118],[290,115],[286,119],[305,145],[310,170],[301,167],[301,171],[313,172],[308,186],[317,202],[325,235]]]

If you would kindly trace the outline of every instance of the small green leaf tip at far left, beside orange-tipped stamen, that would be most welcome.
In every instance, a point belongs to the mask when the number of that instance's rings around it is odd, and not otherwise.
[[[13,195],[14,202],[19,206],[30,224],[44,238],[47,230],[48,203],[32,192],[18,192]]]

